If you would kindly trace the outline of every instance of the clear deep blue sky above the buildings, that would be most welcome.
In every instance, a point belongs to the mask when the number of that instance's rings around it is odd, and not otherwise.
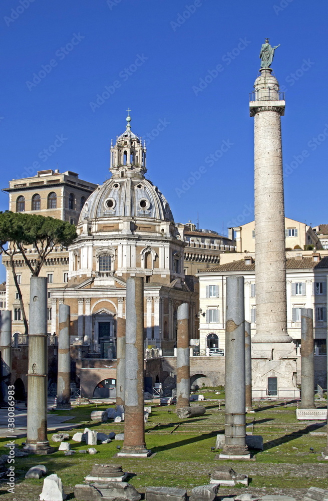
[[[252,220],[248,101],[269,37],[286,99],[285,213],[327,223],[327,16],[326,0],[2,0],[2,188],[49,168],[102,184],[130,107],[176,221],[198,212],[226,233]]]

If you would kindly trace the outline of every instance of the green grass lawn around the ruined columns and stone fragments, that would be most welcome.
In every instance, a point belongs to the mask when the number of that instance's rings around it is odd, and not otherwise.
[[[270,489],[288,489],[297,486],[307,489],[316,486],[328,488],[328,461],[319,461],[317,457],[326,445],[326,436],[310,434],[311,432],[325,432],[326,423],[319,426],[307,422],[297,421],[294,403],[260,402],[254,403],[254,414],[247,414],[247,431],[254,435],[262,435],[264,450],[253,451],[256,461],[216,461],[211,447],[215,445],[217,433],[224,432],[224,402],[219,402],[220,395],[215,392],[199,391],[210,401],[200,402],[206,407],[206,414],[201,417],[180,420],[175,414],[175,406],[152,407],[148,423],[145,425],[146,444],[156,454],[150,458],[116,458],[117,446],[123,442],[113,440],[109,444],[98,444],[96,455],[80,454],[81,449],[87,449],[85,443],[70,440],[71,448],[76,451],[73,456],[64,456],[58,451],[48,456],[33,456],[16,458],[17,485],[15,496],[6,492],[5,482],[0,485],[1,499],[21,501],[39,498],[43,480],[26,480],[27,470],[38,463],[45,464],[50,473],[57,473],[64,484],[69,499],[74,497],[74,485],[82,483],[84,477],[90,473],[92,465],[97,463],[122,464],[123,470],[130,473],[129,482],[140,492],[146,486],[176,486],[187,488],[188,493],[196,486],[209,482],[209,475],[220,464],[229,463],[237,473],[249,476],[249,487],[244,491],[269,493]],[[217,400],[215,400],[215,398]],[[323,406],[323,405],[321,405]],[[124,424],[106,422],[90,422],[90,414],[95,410],[95,404],[81,405],[74,408],[72,423],[84,424],[70,431],[72,437],[76,431],[83,431],[84,427],[109,433],[122,433]],[[97,410],[105,410],[108,405],[98,405]],[[52,411],[56,412],[56,411]],[[58,447],[59,443],[51,441],[53,433],[48,435],[51,445]],[[0,439],[0,454],[8,449],[4,447],[8,439]],[[17,439],[21,444],[25,439]],[[310,447],[314,452],[310,451]],[[240,490],[242,491],[242,489]],[[231,495],[236,489],[220,487],[219,495]],[[289,494],[290,495],[290,494]],[[301,499],[301,497],[299,497]]]

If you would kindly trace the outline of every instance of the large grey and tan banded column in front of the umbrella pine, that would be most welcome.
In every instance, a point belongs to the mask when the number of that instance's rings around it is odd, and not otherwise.
[[[47,438],[47,279],[31,277],[28,366],[28,432],[25,450],[50,454]]]

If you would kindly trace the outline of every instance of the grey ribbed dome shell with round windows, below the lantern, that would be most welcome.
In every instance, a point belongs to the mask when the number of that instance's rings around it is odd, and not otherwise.
[[[111,178],[86,201],[79,223],[103,217],[149,217],[173,221],[170,206],[148,179]]]

